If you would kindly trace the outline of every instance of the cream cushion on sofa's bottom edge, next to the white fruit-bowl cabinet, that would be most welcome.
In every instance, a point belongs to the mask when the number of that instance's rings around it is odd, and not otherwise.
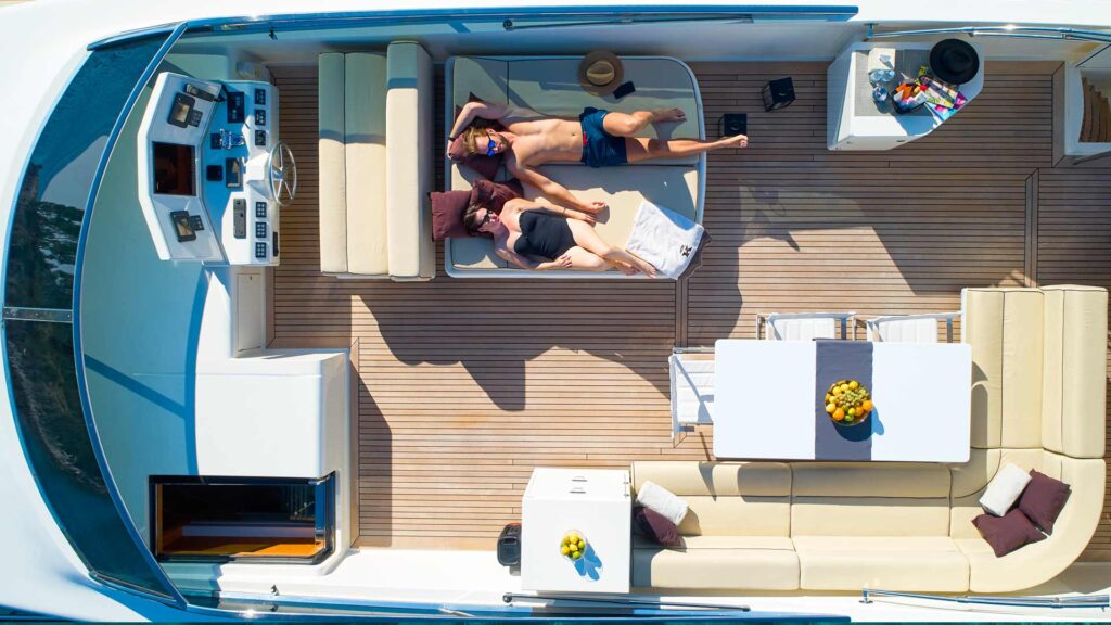
[[[799,558],[785,537],[684,537],[682,547],[633,544],[632,585],[653,588],[794,591]]]

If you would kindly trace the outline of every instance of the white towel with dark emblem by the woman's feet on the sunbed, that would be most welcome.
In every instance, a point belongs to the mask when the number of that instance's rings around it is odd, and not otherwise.
[[[650,262],[660,276],[678,279],[698,251],[703,231],[682,215],[645,200],[637,211],[625,249]]]

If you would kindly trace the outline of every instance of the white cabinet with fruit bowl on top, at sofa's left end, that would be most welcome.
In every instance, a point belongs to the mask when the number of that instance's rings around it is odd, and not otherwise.
[[[629,472],[532,472],[521,510],[521,587],[568,593],[628,593],[631,544]],[[569,532],[589,546],[580,560],[560,554]]]

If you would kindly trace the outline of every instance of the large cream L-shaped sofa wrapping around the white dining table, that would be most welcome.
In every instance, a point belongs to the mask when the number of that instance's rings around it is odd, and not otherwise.
[[[633,463],[634,488],[651,480],[690,512],[679,548],[634,537],[632,585],[1000,593],[1062,572],[1103,509],[1107,290],[972,288],[962,312],[973,361],[968,463]],[[1072,493],[1051,536],[995,557],[971,520],[1008,463]]]

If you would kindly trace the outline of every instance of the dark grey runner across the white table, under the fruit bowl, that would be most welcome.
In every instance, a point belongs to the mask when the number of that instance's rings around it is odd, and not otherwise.
[[[855,426],[834,425],[825,413],[825,391],[842,379],[854,379],[872,390],[872,341],[814,341],[814,459],[872,459],[872,425],[875,415]]]

